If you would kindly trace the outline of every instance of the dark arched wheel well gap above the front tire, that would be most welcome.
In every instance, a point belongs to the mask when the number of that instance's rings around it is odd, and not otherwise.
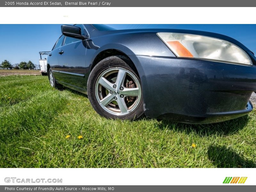
[[[104,50],[102,52],[100,52],[96,57],[95,59],[93,60],[93,63],[92,63],[92,67],[91,67],[91,71],[92,69],[95,67],[95,65],[97,65],[97,63],[99,63],[101,60],[107,58],[107,57],[110,57],[110,56],[115,56],[115,55],[123,55],[125,56],[128,60],[130,60],[129,63],[127,63],[133,70],[134,72],[139,76],[138,74],[138,71],[134,65],[134,63],[132,62],[132,60],[126,55],[124,54],[123,52],[119,51],[119,50],[116,50],[116,49],[107,49],[107,50]]]

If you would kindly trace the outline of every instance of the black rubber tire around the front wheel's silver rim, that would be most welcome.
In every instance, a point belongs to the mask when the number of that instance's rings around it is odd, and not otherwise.
[[[88,83],[87,83],[87,93],[88,93],[88,98],[92,104],[92,107],[95,109],[95,111],[100,114],[101,116],[104,116],[106,118],[111,118],[111,119],[129,119],[129,120],[135,120],[140,118],[144,114],[143,110],[143,94],[142,94],[142,89],[141,89],[141,82],[139,76],[134,72],[134,70],[128,65],[131,64],[130,66],[133,66],[131,61],[125,57],[125,56],[110,56],[108,58],[105,58],[101,60],[91,71],[90,76],[88,78]],[[98,78],[102,73],[105,71],[111,69],[111,68],[124,68],[125,70],[129,70],[134,76],[136,76],[137,81],[140,84],[140,101],[138,100],[137,107],[134,107],[131,112],[125,115],[113,115],[111,113],[108,113],[105,109],[101,107],[99,102],[96,99],[95,95],[95,89],[96,89],[96,83]],[[121,91],[120,91],[121,92]],[[121,96],[120,96],[121,97]],[[124,97],[124,96],[123,96]],[[139,97],[138,97],[139,98]],[[117,105],[118,106],[118,105]],[[121,109],[120,109],[121,111]]]

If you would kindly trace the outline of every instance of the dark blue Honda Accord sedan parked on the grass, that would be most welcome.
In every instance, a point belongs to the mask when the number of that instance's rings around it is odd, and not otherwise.
[[[252,111],[256,58],[228,36],[180,29],[62,25],[47,58],[52,87],[88,94],[101,116],[205,124]]]

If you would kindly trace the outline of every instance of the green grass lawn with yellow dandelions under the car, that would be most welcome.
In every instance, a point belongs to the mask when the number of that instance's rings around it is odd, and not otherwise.
[[[0,77],[0,167],[256,167],[255,125],[109,120],[45,76]]]

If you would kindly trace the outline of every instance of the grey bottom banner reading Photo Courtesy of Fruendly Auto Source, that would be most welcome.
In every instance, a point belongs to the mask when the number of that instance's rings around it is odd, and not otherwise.
[[[215,191],[232,191],[232,192],[241,192],[241,191],[254,191],[255,186],[250,185],[222,185],[222,186],[136,186],[136,185],[104,185],[104,186],[60,186],[60,185],[48,185],[48,186],[0,186],[0,191],[17,191],[17,192],[50,192],[50,191],[68,191],[68,192],[84,192],[84,191],[94,191],[94,192],[166,192],[166,191],[197,191],[197,192],[215,192]]]

